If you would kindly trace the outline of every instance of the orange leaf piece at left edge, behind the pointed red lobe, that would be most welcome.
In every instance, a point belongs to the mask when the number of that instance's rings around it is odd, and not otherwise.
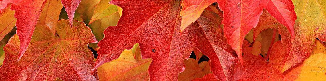
[[[14,17],[15,11],[10,10],[10,5],[8,5],[0,13],[0,40],[2,40],[11,30],[15,27],[17,19]]]

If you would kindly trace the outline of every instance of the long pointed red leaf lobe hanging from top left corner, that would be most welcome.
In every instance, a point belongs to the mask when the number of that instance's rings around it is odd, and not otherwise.
[[[17,35],[21,40],[18,60],[22,58],[22,55],[31,41],[43,2],[44,0],[3,0],[0,2],[0,4],[4,5],[12,3],[11,9],[16,11]]]

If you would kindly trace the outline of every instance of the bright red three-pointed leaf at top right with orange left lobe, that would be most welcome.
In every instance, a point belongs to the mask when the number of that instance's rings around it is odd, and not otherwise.
[[[263,8],[285,25],[294,39],[293,25],[296,14],[290,0],[184,0],[181,29],[194,22],[205,7],[214,2],[217,2],[219,8],[224,11],[224,36],[237,52],[241,62],[243,62],[241,54],[244,36],[257,26]]]

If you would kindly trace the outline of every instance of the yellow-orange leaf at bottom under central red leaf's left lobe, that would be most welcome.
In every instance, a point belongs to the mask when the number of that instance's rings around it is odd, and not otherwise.
[[[152,59],[141,59],[138,44],[134,50],[124,50],[120,57],[97,68],[100,81],[149,80],[148,67]],[[140,57],[140,58],[134,58]]]

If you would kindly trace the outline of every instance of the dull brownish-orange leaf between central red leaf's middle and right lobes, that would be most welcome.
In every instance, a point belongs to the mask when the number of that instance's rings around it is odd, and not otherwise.
[[[198,64],[198,60],[189,58],[185,59],[184,63],[185,71],[179,73],[178,81],[190,81],[195,78],[200,78],[206,74],[212,73],[210,65],[211,62],[203,61]]]

